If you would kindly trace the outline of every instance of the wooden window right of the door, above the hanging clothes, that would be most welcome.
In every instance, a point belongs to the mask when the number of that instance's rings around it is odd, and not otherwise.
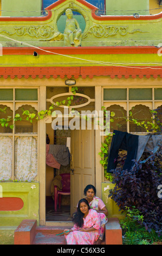
[[[103,102],[107,111],[114,112],[114,121],[111,123],[110,131],[119,130],[127,132],[146,132],[146,129],[132,121],[127,122],[129,117],[147,124],[147,130],[152,127],[151,110],[159,109],[157,118],[161,120],[161,88],[104,88]],[[130,118],[130,120],[131,120]]]

